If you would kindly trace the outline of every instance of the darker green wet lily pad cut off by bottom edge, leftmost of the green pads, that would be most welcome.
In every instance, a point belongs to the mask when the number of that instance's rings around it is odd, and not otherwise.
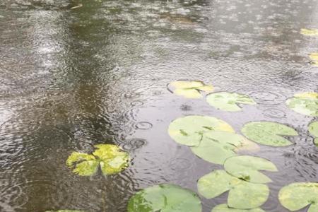
[[[131,196],[128,212],[201,212],[199,196],[182,187],[160,184],[148,187]]]

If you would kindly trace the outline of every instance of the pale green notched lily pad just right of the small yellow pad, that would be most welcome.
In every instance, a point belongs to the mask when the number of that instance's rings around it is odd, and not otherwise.
[[[239,106],[241,104],[256,105],[256,102],[252,98],[249,98],[248,95],[228,92],[211,93],[206,97],[206,101],[212,107],[231,112],[242,110]]]

